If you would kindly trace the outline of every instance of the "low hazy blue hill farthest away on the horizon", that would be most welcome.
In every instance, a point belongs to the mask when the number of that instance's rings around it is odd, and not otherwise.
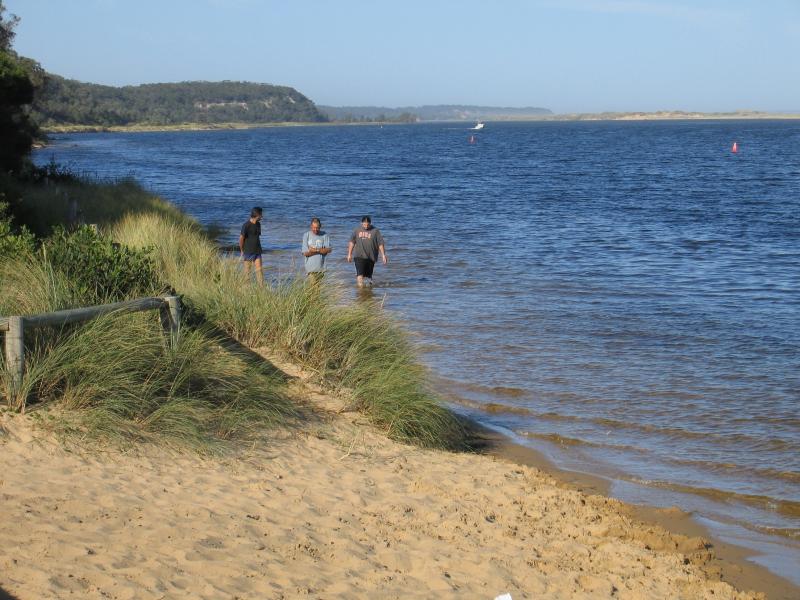
[[[530,119],[552,115],[547,108],[474,106],[441,104],[424,106],[319,106],[320,111],[336,121],[389,121],[413,115],[421,121],[476,121],[479,119]]]

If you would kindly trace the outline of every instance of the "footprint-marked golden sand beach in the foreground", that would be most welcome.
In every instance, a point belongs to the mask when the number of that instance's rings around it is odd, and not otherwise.
[[[524,461],[390,441],[307,374],[279,366],[308,407],[303,426],[224,457],[151,446],[101,452],[56,440],[36,413],[4,414],[2,592],[765,597],[721,581],[702,537],[644,523],[621,502]],[[750,582],[768,583],[759,572]],[[769,597],[784,594],[788,584]]]

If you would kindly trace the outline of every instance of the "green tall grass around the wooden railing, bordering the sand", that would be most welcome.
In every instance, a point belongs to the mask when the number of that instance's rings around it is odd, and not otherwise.
[[[70,281],[46,261],[0,259],[0,314],[44,312],[71,298]],[[283,381],[221,342],[209,328],[184,327],[171,343],[156,312],[36,329],[26,332],[25,373],[13,392],[0,359],[0,392],[17,410],[57,409],[59,426],[81,435],[208,451],[293,414]]]

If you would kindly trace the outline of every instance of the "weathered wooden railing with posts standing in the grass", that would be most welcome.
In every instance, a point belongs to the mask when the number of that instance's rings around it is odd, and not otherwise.
[[[10,391],[12,395],[19,389],[22,376],[25,374],[26,330],[37,327],[62,327],[96,319],[109,313],[132,313],[155,309],[161,311],[161,324],[169,335],[170,341],[175,343],[180,334],[181,324],[181,302],[177,296],[139,298],[138,300],[59,310],[40,315],[0,317],[0,332],[5,332],[5,362],[11,378]]]

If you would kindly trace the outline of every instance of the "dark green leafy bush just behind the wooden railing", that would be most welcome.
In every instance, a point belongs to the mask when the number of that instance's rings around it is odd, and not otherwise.
[[[156,294],[163,289],[150,249],[113,242],[89,226],[74,232],[58,227],[42,252],[69,280],[75,300],[102,303]]]

